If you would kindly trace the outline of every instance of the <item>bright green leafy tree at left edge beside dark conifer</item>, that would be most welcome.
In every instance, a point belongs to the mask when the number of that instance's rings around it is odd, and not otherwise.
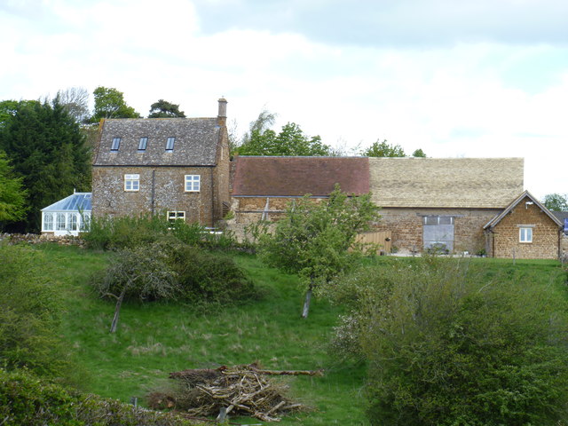
[[[14,176],[6,154],[0,151],[0,225],[25,216],[26,195],[22,188],[22,178]]]

